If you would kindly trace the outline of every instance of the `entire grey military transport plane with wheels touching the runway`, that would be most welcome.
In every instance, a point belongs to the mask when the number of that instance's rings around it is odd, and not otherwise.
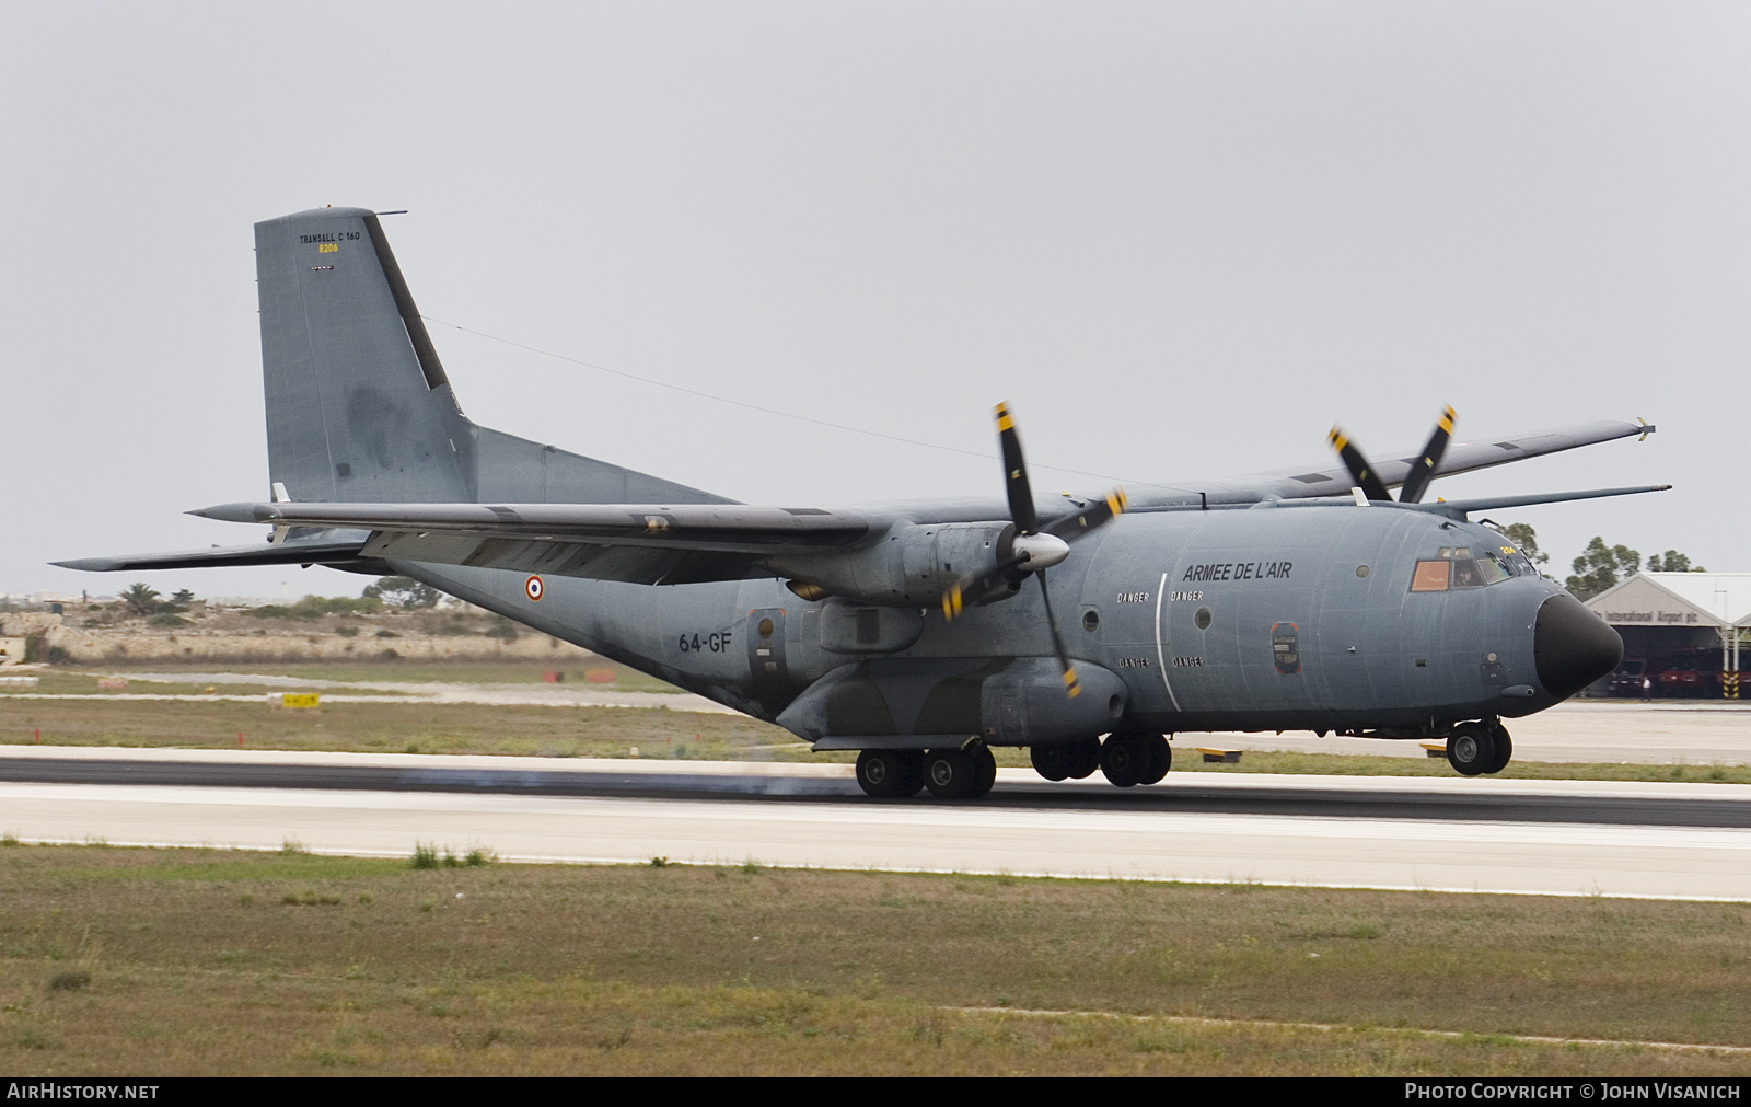
[[[1000,406],[1005,499],[746,506],[469,422],[369,210],[259,222],[256,266],[271,501],[194,515],[271,538],[60,564],[403,573],[858,750],[881,797],[984,795],[991,746],[1149,785],[1196,730],[1445,737],[1497,772],[1501,720],[1621,641],[1469,515],[1667,487],[1424,503],[1434,476],[1653,431],[1459,443],[1448,410],[1378,466],[1333,429],[1336,469],[1037,497]]]

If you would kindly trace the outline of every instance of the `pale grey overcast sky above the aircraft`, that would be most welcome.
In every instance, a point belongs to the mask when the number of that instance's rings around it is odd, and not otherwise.
[[[1646,417],[1438,482],[1751,571],[1744,4],[0,7],[0,592],[261,538],[252,222],[385,219],[468,413],[751,503],[1327,468]],[[357,594],[327,569],[159,573]],[[282,583],[284,582],[284,583]]]

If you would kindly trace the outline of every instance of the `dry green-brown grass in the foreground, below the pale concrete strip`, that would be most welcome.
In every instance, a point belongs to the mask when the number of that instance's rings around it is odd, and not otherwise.
[[[1742,904],[21,846],[0,1067],[1735,1075],[1504,1035],[1751,1046],[1747,937]]]

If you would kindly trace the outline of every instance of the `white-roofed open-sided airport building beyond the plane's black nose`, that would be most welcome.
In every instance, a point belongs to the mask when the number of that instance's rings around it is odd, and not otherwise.
[[[1592,694],[1739,699],[1751,573],[1637,573],[1586,606],[1623,636],[1623,664]]]

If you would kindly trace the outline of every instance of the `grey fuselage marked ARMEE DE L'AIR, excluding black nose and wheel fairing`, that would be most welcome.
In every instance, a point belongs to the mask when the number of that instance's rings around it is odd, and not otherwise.
[[[1410,737],[1572,694],[1541,681],[1534,639],[1546,603],[1576,601],[1523,562],[1494,583],[1457,568],[1445,589],[1413,590],[1418,562],[1466,561],[1455,552],[1516,557],[1488,527],[1390,504],[1135,513],[1077,543],[1051,569],[1051,596],[1070,655],[1122,681],[1122,718],[1107,730]],[[531,601],[520,573],[396,568],[763,720],[847,664],[1052,655],[1040,589],[1026,580],[954,622],[925,610],[904,650],[856,653],[823,648],[825,604],[776,578],[650,587],[550,576]]]

